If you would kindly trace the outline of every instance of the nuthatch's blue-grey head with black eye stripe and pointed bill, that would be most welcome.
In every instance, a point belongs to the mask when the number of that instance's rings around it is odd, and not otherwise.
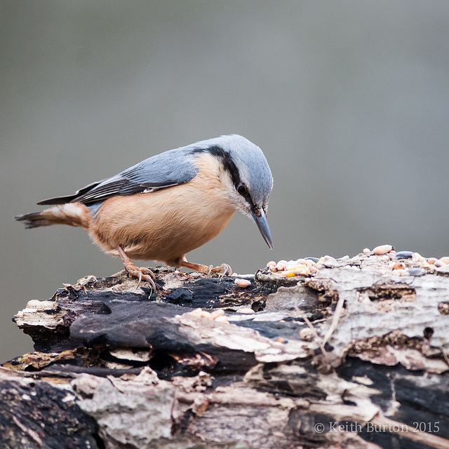
[[[202,151],[217,157],[225,173],[223,189],[232,205],[252,217],[260,234],[273,248],[267,221],[273,177],[262,150],[241,135],[222,135],[203,143]]]

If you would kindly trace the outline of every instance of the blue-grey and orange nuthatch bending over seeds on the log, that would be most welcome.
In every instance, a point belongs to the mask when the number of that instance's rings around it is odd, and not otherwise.
[[[185,255],[219,234],[236,210],[253,217],[273,248],[267,205],[273,177],[262,150],[241,135],[222,135],[172,149],[68,196],[15,217],[26,228],[70,225],[86,229],[126,272],[154,287],[154,274],[134,259],[156,260],[199,272],[227,272],[187,262]]]

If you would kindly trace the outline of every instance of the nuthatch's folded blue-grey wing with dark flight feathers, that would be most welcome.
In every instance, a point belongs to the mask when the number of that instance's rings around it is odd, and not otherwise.
[[[133,195],[185,184],[198,169],[194,156],[187,148],[171,149],[156,154],[118,175],[93,182],[72,195],[39,201],[38,204],[84,203],[90,205],[116,195]]]

